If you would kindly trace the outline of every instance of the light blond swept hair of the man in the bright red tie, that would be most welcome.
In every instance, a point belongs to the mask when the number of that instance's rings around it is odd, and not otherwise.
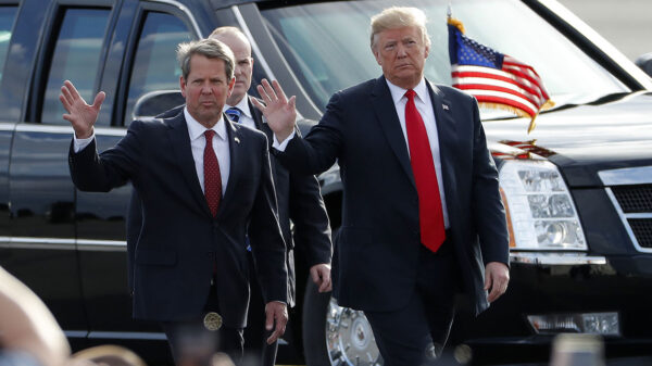
[[[376,35],[388,29],[417,27],[424,45],[430,47],[430,36],[426,29],[427,17],[421,9],[411,7],[391,7],[372,16],[372,50],[376,47]]]

